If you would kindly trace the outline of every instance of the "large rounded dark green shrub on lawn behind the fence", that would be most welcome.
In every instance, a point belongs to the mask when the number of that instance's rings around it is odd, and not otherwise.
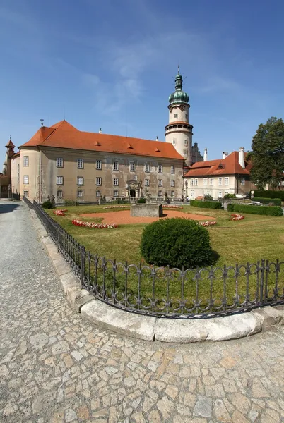
[[[156,266],[195,268],[213,261],[207,229],[184,218],[160,219],[146,226],[141,254]]]

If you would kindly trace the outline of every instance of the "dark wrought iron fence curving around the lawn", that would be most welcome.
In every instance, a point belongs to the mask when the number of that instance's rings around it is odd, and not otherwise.
[[[95,298],[128,312],[191,319],[284,304],[284,262],[171,269],[122,263],[85,251],[37,202],[35,210],[81,286]]]

